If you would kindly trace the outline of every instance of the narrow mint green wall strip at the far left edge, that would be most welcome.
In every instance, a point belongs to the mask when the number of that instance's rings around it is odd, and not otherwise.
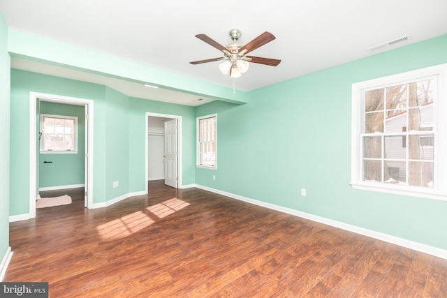
[[[0,260],[9,246],[9,97],[10,57],[8,54],[8,28],[0,13]]]

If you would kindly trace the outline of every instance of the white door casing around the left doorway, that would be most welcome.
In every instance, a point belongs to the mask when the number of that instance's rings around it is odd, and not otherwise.
[[[87,179],[85,181],[87,188],[87,208],[93,205],[93,119],[94,109],[93,100],[86,98],[76,98],[71,96],[61,96],[56,94],[44,94],[39,92],[29,92],[29,218],[36,217],[36,191],[37,191],[37,137],[36,137],[36,113],[37,100],[42,98],[44,101],[53,103],[65,103],[68,105],[84,105],[88,110],[89,119],[87,121],[87,152],[89,162],[85,171]]]

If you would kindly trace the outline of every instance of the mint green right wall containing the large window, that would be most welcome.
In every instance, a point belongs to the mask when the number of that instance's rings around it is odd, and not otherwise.
[[[196,184],[447,249],[446,201],[349,185],[351,84],[446,62],[440,36],[252,91],[247,105],[200,106],[218,114],[218,169],[196,169]]]

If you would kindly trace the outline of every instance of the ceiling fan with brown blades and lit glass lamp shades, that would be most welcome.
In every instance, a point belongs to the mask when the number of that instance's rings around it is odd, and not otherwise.
[[[275,37],[272,33],[265,31],[260,36],[247,43],[247,45],[243,46],[237,43],[237,40],[241,36],[241,31],[239,29],[230,30],[229,35],[231,40],[233,40],[233,43],[230,43],[229,45],[224,47],[205,34],[197,34],[196,38],[203,40],[208,45],[211,45],[212,47],[217,48],[217,50],[222,51],[223,57],[192,61],[189,63],[195,65],[212,61],[223,61],[223,63],[219,64],[219,69],[224,75],[229,72],[230,77],[240,77],[242,73],[245,73],[248,70],[249,61],[257,64],[265,64],[268,66],[277,66],[281,62],[281,60],[279,59],[246,56],[249,52],[256,50],[258,47],[261,47],[266,43],[270,43],[270,41],[274,40]]]

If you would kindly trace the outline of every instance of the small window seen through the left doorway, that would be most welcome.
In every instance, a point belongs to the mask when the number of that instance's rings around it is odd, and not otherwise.
[[[41,153],[77,153],[78,117],[41,114]]]

